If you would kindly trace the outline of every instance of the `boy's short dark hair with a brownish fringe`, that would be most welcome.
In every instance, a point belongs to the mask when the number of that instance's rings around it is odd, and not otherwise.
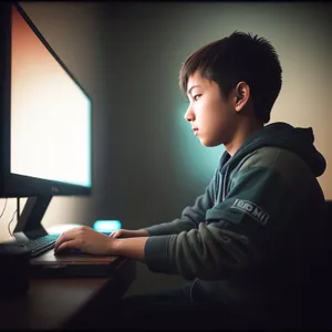
[[[256,116],[263,123],[270,121],[282,84],[282,69],[274,48],[267,39],[235,31],[194,52],[179,72],[179,86],[185,94],[188,79],[197,70],[201,76],[215,81],[225,96],[245,81],[250,86]]]

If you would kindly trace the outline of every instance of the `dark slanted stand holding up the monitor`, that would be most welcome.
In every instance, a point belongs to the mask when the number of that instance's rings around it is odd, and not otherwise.
[[[13,230],[13,236],[17,241],[24,242],[48,235],[41,221],[51,199],[52,196],[28,197]]]

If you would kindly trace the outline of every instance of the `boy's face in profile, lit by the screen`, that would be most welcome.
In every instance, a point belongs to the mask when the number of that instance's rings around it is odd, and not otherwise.
[[[237,128],[237,112],[231,94],[221,95],[219,85],[196,71],[187,84],[189,107],[185,120],[191,124],[195,135],[205,146],[228,144]]]

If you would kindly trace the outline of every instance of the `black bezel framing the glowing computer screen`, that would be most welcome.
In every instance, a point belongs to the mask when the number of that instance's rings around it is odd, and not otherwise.
[[[3,10],[1,10],[1,32],[0,32],[0,59],[2,59],[3,63],[0,63],[0,82],[2,82],[2,89],[0,89],[2,94],[2,106],[0,110],[1,113],[1,132],[2,132],[2,142],[1,142],[1,170],[0,170],[0,197],[33,197],[33,196],[42,196],[42,195],[51,195],[51,196],[68,196],[68,195],[91,195],[92,191],[92,110],[93,110],[93,101],[84,87],[80,84],[76,77],[71,73],[68,66],[63,63],[63,61],[59,58],[56,52],[52,49],[49,42],[44,39],[39,29],[34,25],[32,20],[29,18],[28,13],[23,10],[23,8],[17,3],[1,3]],[[50,54],[54,58],[54,60],[62,66],[62,69],[66,72],[66,74],[77,84],[77,86],[82,90],[85,96],[90,100],[91,103],[91,118],[90,118],[90,137],[91,137],[91,160],[90,160],[90,169],[91,169],[91,186],[80,186],[74,184],[68,184],[58,180],[49,180],[41,179],[30,176],[17,175],[10,173],[10,106],[11,106],[11,20],[12,20],[12,7],[14,7],[28,25],[31,28],[33,33],[38,37],[38,39],[43,43]],[[33,147],[31,147],[33,148]]]

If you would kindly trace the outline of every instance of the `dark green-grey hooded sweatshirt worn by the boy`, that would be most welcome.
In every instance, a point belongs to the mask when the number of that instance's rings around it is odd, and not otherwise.
[[[147,267],[193,280],[193,301],[249,315],[272,301],[290,303],[286,294],[304,282],[321,243],[314,229],[323,227],[324,196],[317,177],[325,160],[313,142],[312,128],[274,123],[232,157],[225,152],[194,206],[145,228]]]

